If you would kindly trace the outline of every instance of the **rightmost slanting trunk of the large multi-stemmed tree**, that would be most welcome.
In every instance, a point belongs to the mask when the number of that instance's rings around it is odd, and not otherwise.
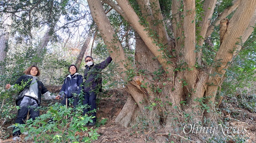
[[[241,1],[239,8],[236,10],[233,17],[227,24],[227,30],[223,36],[223,42],[216,53],[215,64],[210,67],[210,74],[212,75],[207,83],[210,85],[207,88],[207,104],[210,107],[210,111],[215,111],[215,95],[218,87],[224,79],[227,67],[233,59],[234,52],[237,49],[237,42],[241,42],[239,38],[244,35],[244,31],[248,27],[250,21],[255,13],[256,0]],[[206,117],[212,117],[212,112],[206,112]]]

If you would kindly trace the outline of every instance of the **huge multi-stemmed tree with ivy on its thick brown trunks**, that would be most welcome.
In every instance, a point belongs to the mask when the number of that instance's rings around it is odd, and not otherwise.
[[[178,121],[217,126],[216,94],[226,69],[253,31],[256,0],[116,0],[117,4],[102,1],[136,33],[138,68],[129,62],[101,0],[87,0],[131,94],[116,122],[130,126],[140,119],[167,133],[180,133],[182,126]],[[218,5],[226,9],[216,15]],[[210,47],[204,41],[211,38],[212,31],[220,37],[209,42],[218,46],[209,57],[207,51],[212,49],[207,49]]]

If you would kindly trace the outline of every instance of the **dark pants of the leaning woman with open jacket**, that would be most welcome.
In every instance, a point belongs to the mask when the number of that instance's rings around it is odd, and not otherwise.
[[[39,116],[39,110],[36,108],[39,107],[37,101],[34,98],[24,96],[21,98],[17,105],[20,106],[20,109],[18,110],[18,116],[16,118],[15,123],[24,124],[26,120],[26,116],[29,113],[29,119],[32,118],[32,120],[35,120],[36,117]],[[13,131],[17,127],[13,127]],[[13,136],[20,135],[20,130],[13,132]]]

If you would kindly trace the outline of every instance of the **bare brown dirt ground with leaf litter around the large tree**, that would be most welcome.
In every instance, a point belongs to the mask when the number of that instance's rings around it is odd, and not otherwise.
[[[50,90],[52,93],[58,93],[58,88],[56,87],[47,87],[48,90]],[[111,90],[111,92],[106,93],[107,97],[103,97],[103,95],[99,95],[97,99],[97,107],[99,110],[97,111],[97,119],[102,120],[104,118],[107,118],[107,122],[105,125],[99,126],[98,134],[100,135],[98,137],[98,140],[93,141],[93,143],[155,143],[154,138],[156,137],[155,132],[139,132],[138,129],[129,127],[125,128],[123,126],[120,126],[119,124],[116,124],[114,122],[116,116],[121,111],[123,105],[125,104],[126,98],[128,96],[128,93],[125,91],[125,89],[118,89],[118,90]],[[44,101],[42,101],[43,103]],[[43,106],[43,105],[42,105]],[[240,125],[240,126],[248,126],[247,133],[245,134],[248,139],[245,141],[245,143],[256,143],[256,114],[247,111],[246,109],[240,109],[237,108],[234,104],[221,104],[221,108],[227,108],[230,110],[230,112],[222,112],[222,118],[227,120],[230,120],[230,123],[234,126]],[[242,117],[233,117],[233,113],[235,112],[241,112],[243,114],[246,114],[246,116]],[[244,118],[247,117],[247,118]],[[29,141],[22,140],[20,142],[14,142],[12,140],[12,129],[6,129],[7,126],[4,126],[3,131],[0,128],[0,134],[9,134],[10,136],[6,140],[1,140],[0,143],[32,143]],[[90,127],[90,128],[96,128]],[[6,133],[7,132],[7,133]],[[160,135],[165,137],[166,135]],[[21,138],[24,138],[25,135],[21,135]],[[250,138],[249,138],[250,137]],[[165,137],[166,138],[166,137]],[[179,138],[179,137],[178,137]],[[170,138],[169,138],[170,139]],[[172,140],[177,140],[177,137],[172,137]],[[166,138],[166,142],[168,141],[168,138]],[[192,141],[185,141],[183,143],[191,143]],[[179,141],[169,142],[169,143],[180,143]],[[227,143],[241,143],[237,142],[237,140],[229,140]]]

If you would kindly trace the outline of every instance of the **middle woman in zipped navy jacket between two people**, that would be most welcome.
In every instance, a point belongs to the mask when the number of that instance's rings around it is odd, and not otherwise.
[[[75,101],[73,102],[73,107],[76,107],[79,102],[78,95],[81,92],[83,76],[77,73],[77,67],[74,64],[71,64],[68,67],[68,71],[70,72],[70,75],[68,75],[67,78],[64,80],[64,84],[61,87],[59,95],[61,95],[61,97],[64,97],[61,104],[69,106],[69,99],[74,99]]]

